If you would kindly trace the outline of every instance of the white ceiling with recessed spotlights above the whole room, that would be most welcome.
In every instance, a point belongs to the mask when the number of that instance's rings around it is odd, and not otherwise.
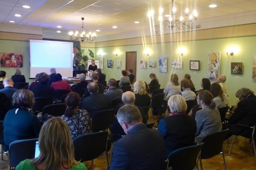
[[[71,30],[81,30],[81,17],[84,27],[97,32],[98,36],[117,34],[148,28],[147,12],[164,8],[169,14],[171,0],[0,0],[0,23],[16,26],[33,26],[44,31],[67,34]],[[237,14],[256,10],[256,0],[175,0],[178,11],[186,7],[198,10],[198,19]],[[215,3],[216,8],[209,8]],[[23,8],[29,5],[31,8]],[[20,14],[21,17],[15,17]],[[180,15],[180,14],[179,14]],[[15,23],[9,23],[10,20]],[[140,21],[135,24],[134,21]],[[62,28],[56,28],[56,26]],[[112,26],[118,28],[113,29]]]

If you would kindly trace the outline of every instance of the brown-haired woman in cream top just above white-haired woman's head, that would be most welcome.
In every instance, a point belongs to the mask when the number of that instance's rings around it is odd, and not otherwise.
[[[171,75],[171,82],[168,82],[163,90],[163,93],[166,94],[168,98],[181,92],[180,83],[178,80],[179,78],[177,74]]]

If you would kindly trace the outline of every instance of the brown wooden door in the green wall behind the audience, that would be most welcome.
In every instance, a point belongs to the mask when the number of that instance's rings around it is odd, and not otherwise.
[[[136,81],[136,70],[137,70],[137,51],[126,51],[126,58],[125,58],[125,70],[132,69],[135,78],[134,82]]]

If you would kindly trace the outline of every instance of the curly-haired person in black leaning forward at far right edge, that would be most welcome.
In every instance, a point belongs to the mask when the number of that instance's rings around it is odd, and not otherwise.
[[[227,138],[232,135],[251,137],[252,129],[238,124],[254,126],[256,123],[256,96],[253,93],[249,88],[241,88],[236,92],[236,97],[239,98],[237,108],[228,123],[223,124],[223,129],[230,129]]]

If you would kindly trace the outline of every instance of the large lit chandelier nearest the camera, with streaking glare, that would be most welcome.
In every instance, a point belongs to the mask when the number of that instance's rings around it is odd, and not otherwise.
[[[172,0],[172,14],[166,14],[164,17],[169,17],[167,20],[163,21],[163,8],[160,8],[159,10],[159,23],[154,25],[155,31],[159,31],[160,28],[163,28],[163,30],[166,30],[167,28],[170,28],[173,30],[184,30],[188,31],[191,28],[195,26],[198,13],[196,10],[192,11],[192,14],[189,14],[189,8],[185,9],[185,17],[182,15],[180,16],[179,20],[177,19],[177,8],[175,7],[176,4],[174,0]],[[151,19],[154,17],[154,11],[148,12],[148,18]]]

